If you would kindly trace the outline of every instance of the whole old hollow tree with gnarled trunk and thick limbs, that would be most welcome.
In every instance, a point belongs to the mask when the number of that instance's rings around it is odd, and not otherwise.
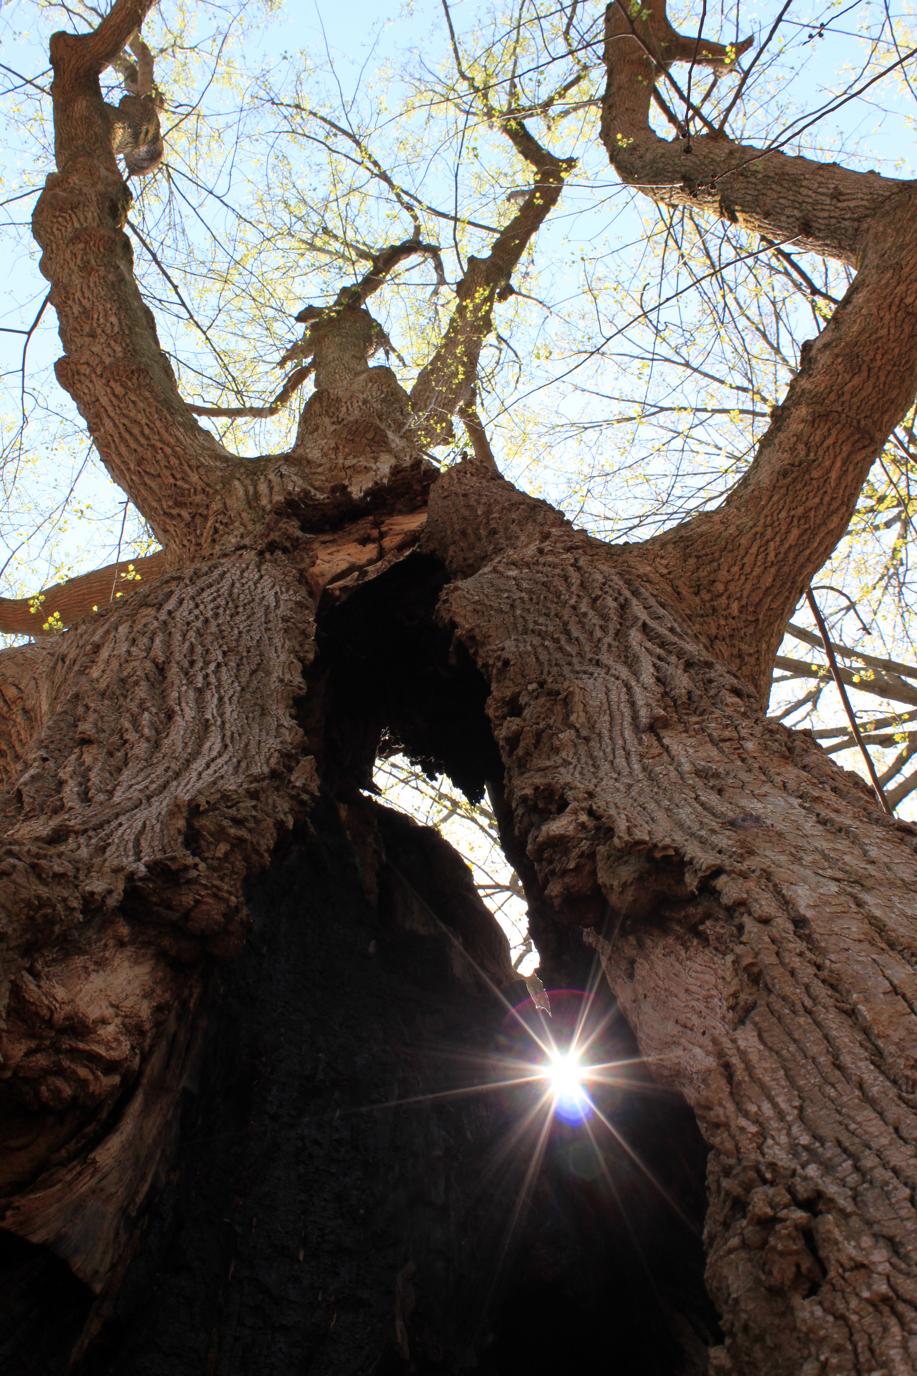
[[[617,178],[855,277],[726,499],[608,544],[476,410],[572,160],[473,72],[531,184],[411,392],[370,310],[441,277],[419,220],[304,312],[289,451],[202,428],[124,233],[161,102],[99,83],[147,8],[51,41],[56,377],[161,553],[0,655],[4,1370],[917,1370],[914,828],[766,718],[917,391],[913,184],[661,138],[670,69],[747,45],[609,6]],[[540,1057],[525,989],[450,846],[367,795],[381,742],[488,790],[543,982],[601,966],[597,1047],[634,1062],[601,1168],[495,1086]]]

